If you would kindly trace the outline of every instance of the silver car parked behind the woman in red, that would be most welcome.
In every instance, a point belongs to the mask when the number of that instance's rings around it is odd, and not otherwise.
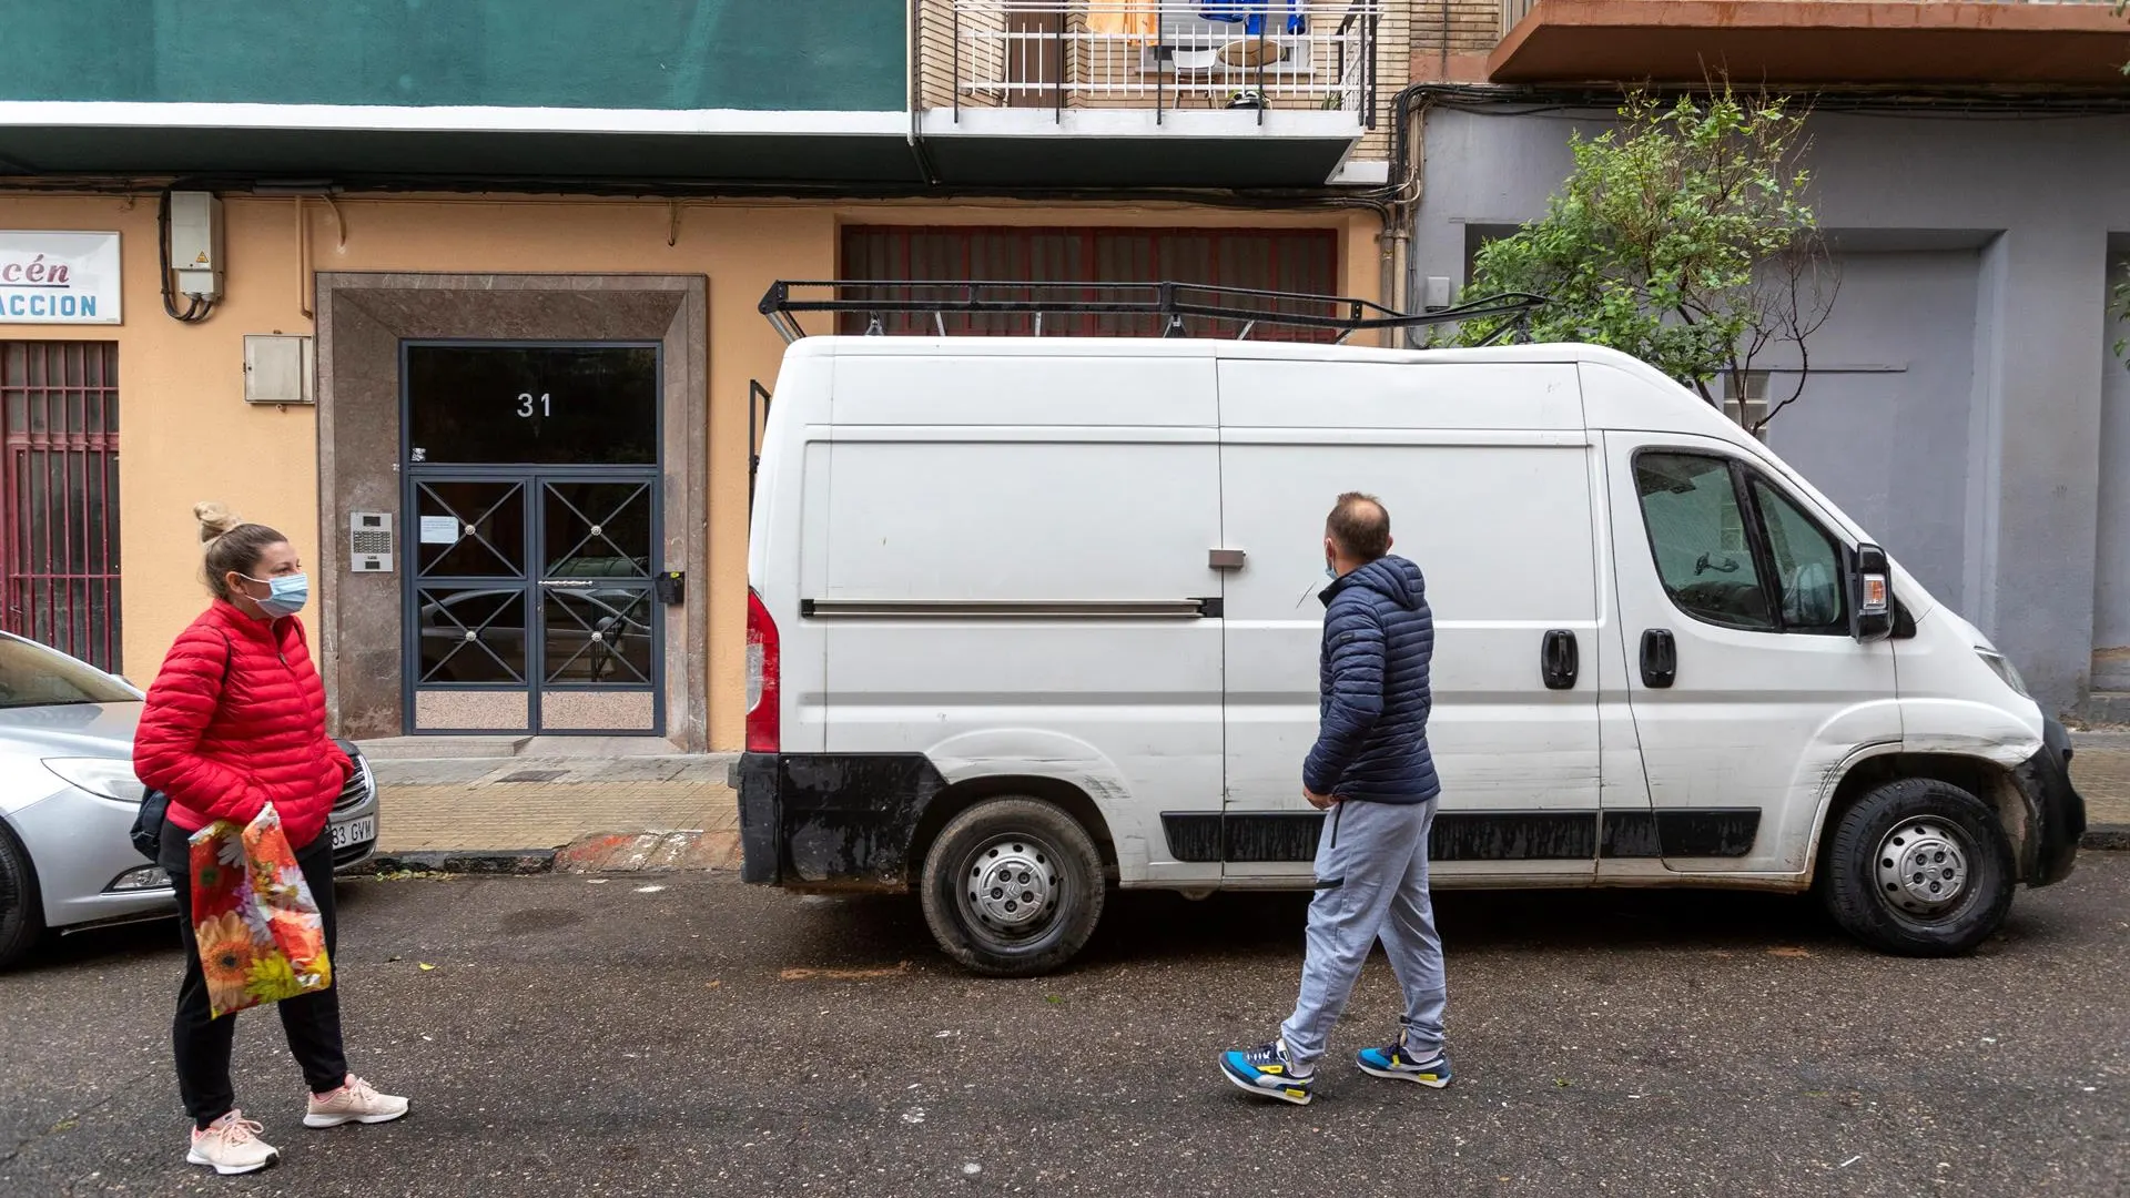
[[[170,914],[170,876],[132,846],[141,780],[132,735],[141,691],[9,633],[0,633],[0,970],[45,929],[72,932]],[[332,806],[339,870],[377,851],[377,784],[356,763]]]

